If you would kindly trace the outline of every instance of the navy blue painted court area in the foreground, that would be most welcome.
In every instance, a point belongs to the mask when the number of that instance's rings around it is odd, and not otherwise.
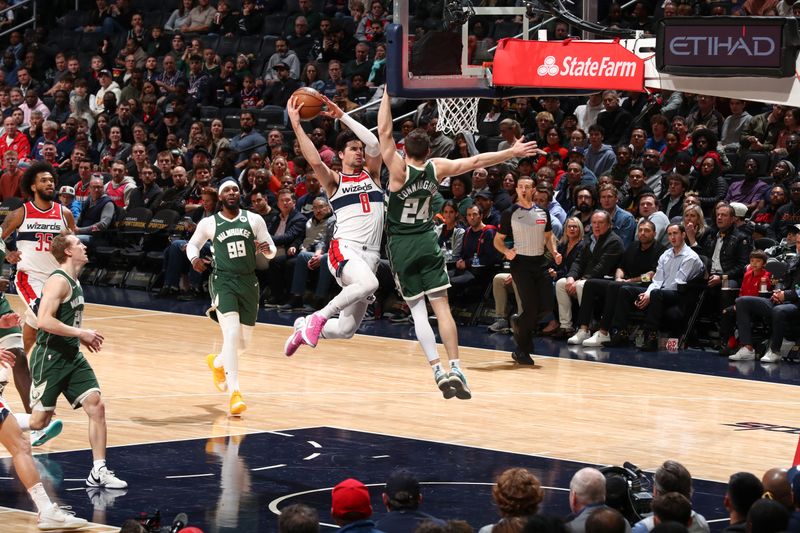
[[[209,422],[210,425],[210,422]],[[491,497],[506,468],[531,469],[547,487],[541,511],[566,516],[572,475],[585,463],[457,446],[328,427],[239,437],[193,439],[110,448],[109,465],[129,483],[126,493],[87,489],[88,450],[38,455],[51,494],[78,516],[119,526],[142,511],[161,511],[163,523],[179,512],[206,533],[277,531],[280,509],[304,503],[317,509],[323,531],[333,531],[331,489],[348,477],[370,487],[374,518],[385,514],[383,483],[404,467],[422,482],[422,509],[440,518],[467,520],[477,529],[498,519]],[[11,471],[10,459],[2,461]],[[51,485],[52,484],[52,485]],[[721,531],[725,484],[695,480],[695,509]],[[32,509],[16,479],[0,478],[0,502]],[[1,529],[1,528],[0,528]]]

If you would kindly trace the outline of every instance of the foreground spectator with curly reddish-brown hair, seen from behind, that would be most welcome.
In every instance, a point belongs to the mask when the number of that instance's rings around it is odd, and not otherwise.
[[[539,479],[529,470],[509,468],[497,476],[492,487],[492,499],[500,513],[500,522],[483,526],[479,533],[521,531],[526,518],[539,510],[544,490]]]

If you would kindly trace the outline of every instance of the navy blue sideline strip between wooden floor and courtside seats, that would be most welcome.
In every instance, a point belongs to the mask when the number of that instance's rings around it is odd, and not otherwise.
[[[112,288],[84,287],[86,301],[137,309],[170,311],[191,315],[203,315],[208,302],[178,302],[174,299],[158,299],[143,291],[122,290]],[[297,313],[283,313],[275,310],[260,311],[259,322],[291,326]],[[364,322],[359,333],[377,335],[394,339],[415,339],[414,326],[411,324],[393,324],[388,320]],[[511,360],[513,341],[510,335],[490,334],[485,327],[460,326],[458,328],[459,344],[474,348],[486,348],[505,352]],[[800,384],[800,364],[780,363],[761,364],[758,361],[728,361],[716,352],[700,350],[684,350],[678,353],[646,353],[633,348],[582,348],[568,346],[565,341],[555,341],[549,337],[534,339],[534,353],[566,359],[584,359],[602,361],[611,364],[656,368],[676,372],[689,372],[708,376],[751,379],[771,383]]]

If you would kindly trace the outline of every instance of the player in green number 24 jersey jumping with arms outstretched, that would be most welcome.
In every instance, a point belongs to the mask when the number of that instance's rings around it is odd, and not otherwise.
[[[433,377],[442,395],[445,398],[455,396],[462,400],[469,399],[472,393],[459,364],[458,332],[447,301],[450,280],[444,255],[433,231],[431,197],[445,177],[496,165],[512,157],[532,156],[537,153],[536,143],[518,141],[500,152],[463,159],[428,159],[430,138],[423,130],[416,129],[406,136],[404,160],[397,153],[392,136],[392,109],[388,91],[383,93],[378,112],[378,137],[383,161],[389,169],[386,207],[389,263],[400,293],[411,310],[417,340],[433,368]],[[439,334],[450,360],[449,370],[442,367],[436,351],[436,337],[428,323],[426,296],[436,314]]]

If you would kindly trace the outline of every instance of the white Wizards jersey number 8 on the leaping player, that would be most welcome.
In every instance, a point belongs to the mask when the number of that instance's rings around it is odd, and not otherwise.
[[[369,172],[339,172],[339,185],[330,197],[336,215],[334,239],[353,241],[377,250],[383,233],[383,190]]]

